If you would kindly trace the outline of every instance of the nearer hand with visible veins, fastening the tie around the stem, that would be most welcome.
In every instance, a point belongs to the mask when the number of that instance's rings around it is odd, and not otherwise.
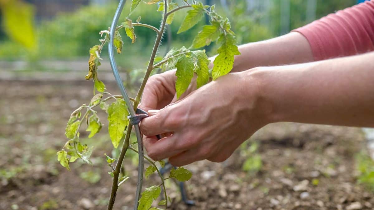
[[[258,82],[249,71],[227,74],[141,122],[144,146],[153,160],[174,166],[208,159],[222,162],[255,131],[266,125]],[[157,140],[156,135],[169,133]]]

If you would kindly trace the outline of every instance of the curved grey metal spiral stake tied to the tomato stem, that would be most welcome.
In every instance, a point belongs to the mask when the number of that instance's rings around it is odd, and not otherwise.
[[[109,60],[110,60],[110,65],[113,71],[114,78],[116,79],[117,85],[121,91],[121,94],[123,96],[123,99],[125,100],[126,104],[128,105],[128,111],[130,113],[130,117],[135,117],[135,111],[131,106],[131,101],[129,99],[129,96],[127,95],[125,86],[123,86],[122,79],[119,75],[118,68],[116,61],[114,59],[114,47],[113,47],[113,41],[114,41],[114,33],[116,32],[115,28],[117,27],[117,22],[119,19],[119,16],[121,15],[123,6],[125,5],[126,0],[120,0],[116,13],[114,14],[114,18],[112,21],[112,24],[110,26],[110,41],[108,44],[108,52],[109,52]],[[137,191],[135,195],[135,204],[134,204],[134,210],[138,209],[138,200],[140,198],[140,193],[141,193],[141,187],[142,187],[142,182],[143,182],[143,172],[144,172],[144,151],[143,151],[143,141],[140,135],[140,129],[139,125],[135,124],[135,133],[137,136],[137,142],[138,142],[138,151],[139,151],[139,167],[138,167],[138,183],[137,183]]]

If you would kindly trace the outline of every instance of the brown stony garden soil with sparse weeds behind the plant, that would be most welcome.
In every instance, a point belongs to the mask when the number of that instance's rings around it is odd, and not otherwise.
[[[109,90],[116,90],[109,84]],[[81,132],[83,141],[95,145],[93,166],[78,161],[69,172],[56,160],[56,151],[67,140],[65,123],[71,111],[89,103],[92,86],[85,80],[0,80],[0,209],[106,209],[111,177],[103,154],[111,154],[112,148],[104,134],[107,127],[93,139]],[[168,209],[374,209],[373,192],[355,178],[354,155],[364,140],[358,128],[271,124],[251,138],[259,145],[259,172],[242,170],[253,155],[244,147],[223,163],[191,164],[187,168],[193,177],[186,185],[196,205],[184,205],[176,185],[167,182],[172,199]],[[132,209],[134,162],[131,155],[125,159],[131,178],[120,186],[116,210]],[[159,183],[155,174],[144,186]]]

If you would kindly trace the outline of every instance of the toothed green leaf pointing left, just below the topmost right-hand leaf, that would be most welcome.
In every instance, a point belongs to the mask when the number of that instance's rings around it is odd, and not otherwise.
[[[212,25],[204,25],[203,30],[196,35],[192,42],[192,47],[200,48],[208,46],[212,41],[216,41],[221,33],[220,23],[212,21]]]

